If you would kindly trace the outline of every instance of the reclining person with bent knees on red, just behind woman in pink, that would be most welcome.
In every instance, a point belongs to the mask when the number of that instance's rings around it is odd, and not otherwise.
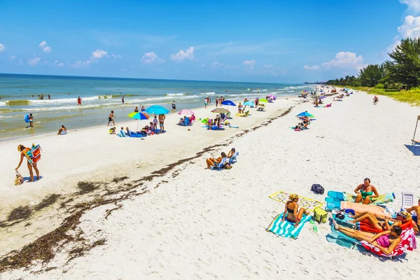
[[[360,228],[360,230],[363,230],[365,232],[372,232],[372,233],[378,233],[378,232],[383,232],[385,230],[391,230],[392,227],[395,226],[401,226],[404,223],[407,223],[408,221],[412,220],[412,216],[405,212],[405,211],[399,211],[397,213],[397,218],[393,219],[393,218],[385,218],[384,222],[380,222],[377,217],[375,217],[372,213],[370,212],[363,212],[354,216],[350,216],[351,218],[353,218],[354,220],[349,221],[349,223],[359,223],[363,221],[367,221],[367,223],[369,223],[370,228]],[[390,225],[388,223],[388,221],[392,221],[393,224]]]

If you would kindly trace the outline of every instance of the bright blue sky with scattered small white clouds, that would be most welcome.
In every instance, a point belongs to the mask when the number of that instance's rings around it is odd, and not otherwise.
[[[0,0],[0,73],[300,83],[420,36],[420,0]]]

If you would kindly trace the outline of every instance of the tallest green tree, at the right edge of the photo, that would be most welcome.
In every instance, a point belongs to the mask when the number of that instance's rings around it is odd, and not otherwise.
[[[395,50],[388,53],[391,60],[385,62],[386,83],[420,85],[420,38],[402,39]]]

